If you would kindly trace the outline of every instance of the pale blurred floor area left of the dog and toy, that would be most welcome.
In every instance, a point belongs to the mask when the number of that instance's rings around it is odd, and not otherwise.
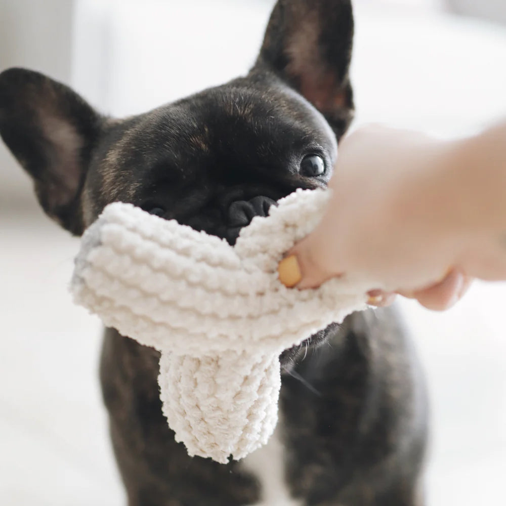
[[[0,218],[0,504],[123,504],[97,380],[100,322],[66,290],[77,245]]]

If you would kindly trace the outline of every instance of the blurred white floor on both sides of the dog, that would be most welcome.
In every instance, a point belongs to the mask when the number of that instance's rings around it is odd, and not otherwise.
[[[119,506],[100,324],[66,291],[77,240],[16,214],[0,216],[0,504]],[[506,503],[505,301],[478,285],[445,314],[403,305],[431,385],[430,506]]]

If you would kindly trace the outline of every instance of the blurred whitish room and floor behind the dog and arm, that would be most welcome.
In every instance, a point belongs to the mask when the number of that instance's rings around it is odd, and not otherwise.
[[[273,0],[0,0],[0,70],[69,83],[112,115],[245,72]],[[504,0],[355,0],[357,125],[439,137],[506,117]],[[119,506],[100,323],[66,287],[78,242],[0,145],[0,504]],[[430,506],[506,504],[504,284],[444,314],[402,302],[431,389]]]

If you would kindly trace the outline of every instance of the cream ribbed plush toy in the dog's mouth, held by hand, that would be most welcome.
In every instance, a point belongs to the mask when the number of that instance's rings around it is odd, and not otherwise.
[[[190,455],[225,463],[265,444],[277,423],[279,354],[365,308],[359,280],[297,290],[277,277],[328,195],[299,190],[281,199],[233,247],[120,202],[83,235],[74,299],[160,351],[163,413]]]

